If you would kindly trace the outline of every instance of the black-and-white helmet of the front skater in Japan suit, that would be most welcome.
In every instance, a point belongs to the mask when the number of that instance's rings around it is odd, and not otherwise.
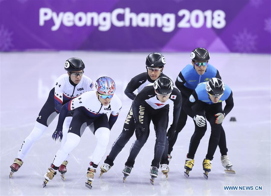
[[[173,90],[173,82],[167,77],[159,77],[154,81],[153,87],[158,94],[168,95]]]

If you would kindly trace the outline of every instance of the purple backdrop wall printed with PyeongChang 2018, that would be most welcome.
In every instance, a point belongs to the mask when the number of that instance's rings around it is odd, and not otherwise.
[[[269,0],[0,1],[0,50],[270,53]]]

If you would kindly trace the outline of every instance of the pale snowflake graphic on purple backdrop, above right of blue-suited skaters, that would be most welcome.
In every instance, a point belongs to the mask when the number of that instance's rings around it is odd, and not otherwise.
[[[234,50],[245,53],[256,51],[256,39],[257,35],[253,35],[250,32],[247,32],[247,29],[244,29],[243,32],[239,32],[238,35],[233,35],[234,40]]]

